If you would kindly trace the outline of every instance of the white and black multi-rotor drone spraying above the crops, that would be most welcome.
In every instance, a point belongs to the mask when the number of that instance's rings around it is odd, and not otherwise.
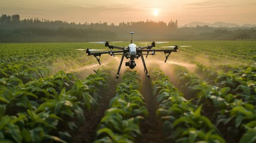
[[[147,46],[137,46],[135,43],[132,43],[132,35],[134,32],[131,33],[131,43],[126,47],[120,47],[120,46],[114,46],[114,45],[109,45],[109,42],[91,42],[91,43],[105,43],[105,46],[109,47],[110,51],[102,51],[103,49],[86,49],[87,55],[94,55],[94,57],[97,59],[98,64],[101,65],[100,63],[100,57],[102,54],[109,54],[113,57],[115,55],[122,55],[119,67],[118,67],[118,72],[116,73],[116,79],[119,78],[119,72],[123,63],[124,58],[129,59],[129,61],[125,62],[125,66],[128,66],[130,69],[134,69],[136,66],[135,59],[141,58],[143,66],[144,66],[144,71],[146,73],[147,77],[150,77],[149,72],[147,71],[146,63],[144,60],[143,55],[146,55],[146,58],[148,55],[155,55],[155,52],[164,52],[165,54],[165,62],[168,59],[169,55],[171,52],[178,52],[178,47],[184,47],[184,46],[162,46],[162,48],[173,48],[173,49],[152,49],[153,47],[156,46],[156,43],[167,43],[167,42],[152,42],[151,45]],[[119,41],[122,42],[122,41]],[[113,49],[118,49],[117,51],[113,51]],[[77,49],[77,50],[85,50],[85,49]],[[99,52],[102,51],[102,52]]]

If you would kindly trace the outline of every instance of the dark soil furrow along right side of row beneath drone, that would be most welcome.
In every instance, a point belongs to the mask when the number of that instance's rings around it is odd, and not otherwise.
[[[144,73],[142,73],[144,76]],[[141,122],[141,138],[137,142],[147,142],[147,143],[161,143],[164,142],[161,133],[161,123],[160,119],[156,117],[156,109],[158,108],[158,103],[156,98],[152,94],[152,85],[150,78],[144,78],[142,80],[143,86],[141,87],[141,94],[144,97],[144,102],[146,102],[146,108],[149,111],[149,115]]]

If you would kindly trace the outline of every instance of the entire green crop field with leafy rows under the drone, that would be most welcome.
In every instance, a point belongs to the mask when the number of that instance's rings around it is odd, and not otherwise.
[[[167,45],[191,47],[116,79],[121,57],[76,50],[104,45],[1,43],[0,142],[256,142],[256,41]]]

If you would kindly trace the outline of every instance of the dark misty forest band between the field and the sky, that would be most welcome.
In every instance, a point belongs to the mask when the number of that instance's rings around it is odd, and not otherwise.
[[[137,41],[255,40],[256,27],[178,27],[178,20],[114,23],[69,23],[60,20],[24,18],[2,14],[0,42],[88,42],[129,41],[134,31]]]

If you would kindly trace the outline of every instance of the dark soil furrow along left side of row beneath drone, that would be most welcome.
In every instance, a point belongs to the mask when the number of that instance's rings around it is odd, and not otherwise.
[[[118,80],[111,79],[108,89],[100,90],[100,97],[98,108],[95,111],[85,111],[85,123],[79,127],[76,135],[73,136],[72,142],[93,142],[97,131],[97,126],[104,116],[104,112],[109,108],[109,101],[115,96],[115,89]]]

